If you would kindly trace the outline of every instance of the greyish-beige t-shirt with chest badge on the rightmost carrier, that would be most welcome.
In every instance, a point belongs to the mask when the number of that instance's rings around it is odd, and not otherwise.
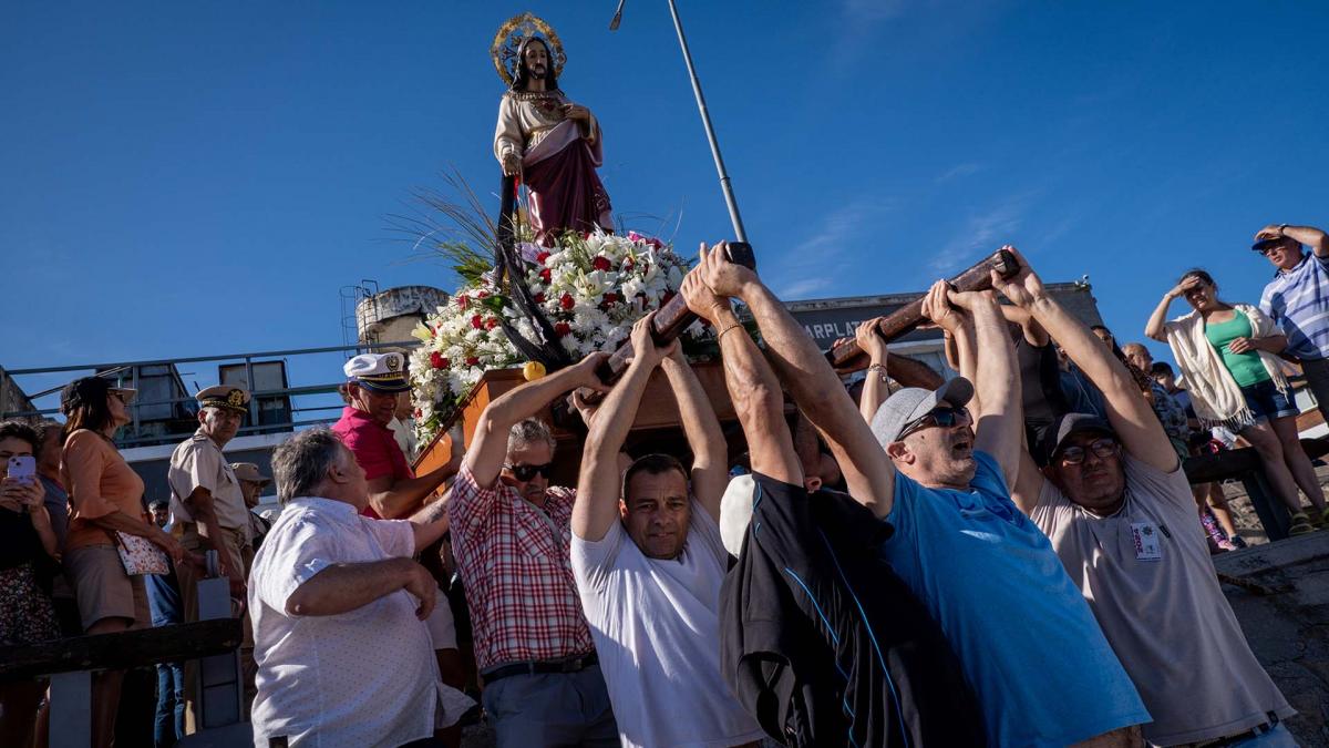
[[[1126,461],[1126,503],[1094,516],[1043,483],[1030,512],[1140,692],[1156,745],[1235,735],[1296,713],[1251,652],[1209,560],[1181,468]]]

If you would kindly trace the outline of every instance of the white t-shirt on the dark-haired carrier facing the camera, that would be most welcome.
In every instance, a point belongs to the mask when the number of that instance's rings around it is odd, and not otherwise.
[[[623,745],[719,748],[763,737],[720,675],[720,528],[692,502],[683,552],[646,558],[618,522],[573,534],[573,574]]]

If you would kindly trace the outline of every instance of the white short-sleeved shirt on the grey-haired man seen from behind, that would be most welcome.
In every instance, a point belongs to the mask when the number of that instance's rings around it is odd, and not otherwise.
[[[409,522],[368,519],[331,499],[286,504],[250,574],[256,748],[283,735],[291,748],[396,748],[460,719],[469,699],[439,681],[419,600],[405,590],[339,615],[286,612],[296,587],[330,566],[413,554]]]

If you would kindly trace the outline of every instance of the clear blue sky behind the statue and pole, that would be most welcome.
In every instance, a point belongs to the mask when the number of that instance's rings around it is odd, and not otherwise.
[[[1255,301],[1251,234],[1329,224],[1322,3],[680,5],[787,298],[921,290],[1009,241],[1139,339],[1180,270]],[[526,9],[605,128],[615,210],[727,237],[663,0],[615,33],[613,0],[11,1],[0,365],[336,345],[340,286],[451,289],[385,217],[453,166],[496,189],[488,45]]]

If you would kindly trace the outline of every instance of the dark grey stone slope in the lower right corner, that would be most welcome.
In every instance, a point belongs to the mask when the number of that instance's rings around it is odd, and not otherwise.
[[[1329,747],[1329,532],[1213,558],[1256,657],[1298,715],[1301,745]]]

